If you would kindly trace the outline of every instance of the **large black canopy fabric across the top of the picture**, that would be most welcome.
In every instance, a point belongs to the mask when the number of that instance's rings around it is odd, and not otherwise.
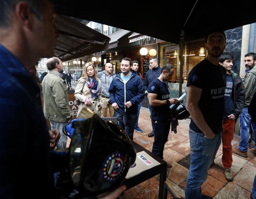
[[[184,40],[191,41],[206,35],[209,30],[228,30],[256,22],[253,8],[256,1],[237,3],[231,0],[160,1],[150,4],[129,1],[127,13],[119,2],[101,4],[93,1],[52,0],[57,13],[91,20],[130,30],[164,41],[179,43],[181,30]],[[248,11],[248,6],[252,8]],[[90,9],[87,9],[90,8]],[[134,9],[136,11],[134,11]],[[115,12],[109,11],[115,10]]]

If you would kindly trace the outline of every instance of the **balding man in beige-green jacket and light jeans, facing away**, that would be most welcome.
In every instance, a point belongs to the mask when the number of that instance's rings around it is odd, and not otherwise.
[[[66,148],[68,137],[63,133],[62,129],[66,122],[73,118],[68,104],[68,86],[66,81],[61,78],[63,65],[59,58],[50,58],[46,65],[49,73],[42,81],[44,117],[50,120],[52,129],[60,131],[57,149],[64,149]]]

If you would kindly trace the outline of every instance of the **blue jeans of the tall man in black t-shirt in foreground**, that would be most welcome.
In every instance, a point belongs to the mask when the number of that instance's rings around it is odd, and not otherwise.
[[[189,129],[190,167],[185,188],[186,199],[202,197],[201,185],[207,179],[208,169],[220,147],[221,133],[213,139]]]

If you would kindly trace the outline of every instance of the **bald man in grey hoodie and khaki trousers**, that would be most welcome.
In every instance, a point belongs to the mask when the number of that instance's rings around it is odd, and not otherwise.
[[[111,106],[111,104],[108,103],[109,100],[109,86],[113,80],[113,78],[116,76],[115,73],[113,73],[113,65],[111,63],[107,63],[105,65],[105,70],[97,73],[98,78],[101,82],[101,93],[102,93],[102,111],[101,111],[101,117],[106,117],[107,112],[109,109],[109,115],[110,117],[113,117],[114,115],[114,109]]]

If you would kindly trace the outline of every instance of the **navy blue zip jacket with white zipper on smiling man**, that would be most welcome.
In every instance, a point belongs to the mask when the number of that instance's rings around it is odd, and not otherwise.
[[[144,88],[140,77],[131,71],[132,76],[124,84],[121,79],[121,73],[117,73],[109,87],[109,101],[108,103],[117,103],[119,109],[118,113],[124,113],[124,104],[126,102],[131,102],[132,106],[130,108],[125,107],[126,114],[137,114],[138,104],[144,99]]]

